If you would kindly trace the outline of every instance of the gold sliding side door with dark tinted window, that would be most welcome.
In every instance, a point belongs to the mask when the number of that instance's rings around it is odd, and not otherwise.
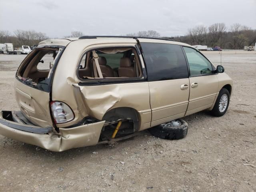
[[[190,87],[180,45],[143,41],[140,39],[147,66],[152,127],[185,115]]]

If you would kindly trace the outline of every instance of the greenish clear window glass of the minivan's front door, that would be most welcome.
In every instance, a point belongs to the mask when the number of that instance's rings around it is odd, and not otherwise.
[[[188,59],[190,75],[193,76],[212,73],[211,63],[202,54],[200,54],[200,52],[189,47],[183,48]]]

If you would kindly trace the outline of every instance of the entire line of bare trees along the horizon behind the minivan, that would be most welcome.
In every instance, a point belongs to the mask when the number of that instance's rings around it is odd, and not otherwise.
[[[72,31],[64,38],[80,37],[83,32]],[[190,45],[207,45],[208,47],[220,46],[224,49],[243,49],[244,46],[254,45],[256,42],[256,30],[241,24],[232,24],[229,28],[224,23],[215,23],[210,26],[199,25],[188,29],[184,36],[161,36],[155,30],[139,31],[125,36],[167,38],[184,42]],[[49,39],[46,33],[34,30],[15,30],[12,35],[7,30],[0,30],[0,43],[12,43],[14,47],[21,45],[38,45],[39,42]]]

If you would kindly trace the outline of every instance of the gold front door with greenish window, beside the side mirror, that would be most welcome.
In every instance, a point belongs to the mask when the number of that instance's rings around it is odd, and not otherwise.
[[[189,64],[190,96],[186,115],[210,108],[218,94],[218,78],[212,64],[200,52],[183,47]]]

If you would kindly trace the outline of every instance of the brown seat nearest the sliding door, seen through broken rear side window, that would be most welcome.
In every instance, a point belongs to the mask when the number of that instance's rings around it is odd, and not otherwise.
[[[118,74],[119,77],[136,77],[136,70],[132,66],[130,58],[123,57],[120,59]]]

